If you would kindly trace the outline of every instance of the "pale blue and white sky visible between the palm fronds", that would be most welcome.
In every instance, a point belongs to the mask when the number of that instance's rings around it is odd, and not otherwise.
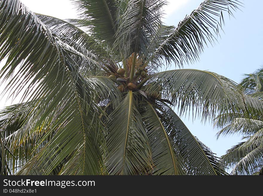
[[[240,0],[242,1],[242,0]],[[70,0],[22,0],[33,12],[54,16],[60,19],[77,18],[76,10]],[[169,5],[164,7],[163,21],[167,25],[177,26],[186,14],[201,4],[202,0],[169,0]],[[263,1],[244,0],[241,11],[234,13],[235,18],[225,16],[224,33],[218,43],[209,45],[204,49],[198,62],[185,65],[184,68],[209,70],[224,75],[237,83],[243,74],[254,72],[263,65]],[[172,64],[170,69],[175,69]],[[2,86],[1,86],[2,88]],[[0,108],[10,105],[11,100],[5,102],[5,97],[0,102]],[[13,101],[16,103],[16,101]],[[214,129],[210,123],[202,124],[199,119],[182,118],[188,129],[200,141],[210,147],[212,151],[221,156],[231,146],[241,141],[241,137],[227,136],[216,140]]]

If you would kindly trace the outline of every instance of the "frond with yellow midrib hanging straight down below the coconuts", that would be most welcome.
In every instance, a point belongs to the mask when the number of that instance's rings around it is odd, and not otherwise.
[[[147,175],[152,170],[150,142],[141,118],[134,93],[129,91],[106,122],[110,175]]]

